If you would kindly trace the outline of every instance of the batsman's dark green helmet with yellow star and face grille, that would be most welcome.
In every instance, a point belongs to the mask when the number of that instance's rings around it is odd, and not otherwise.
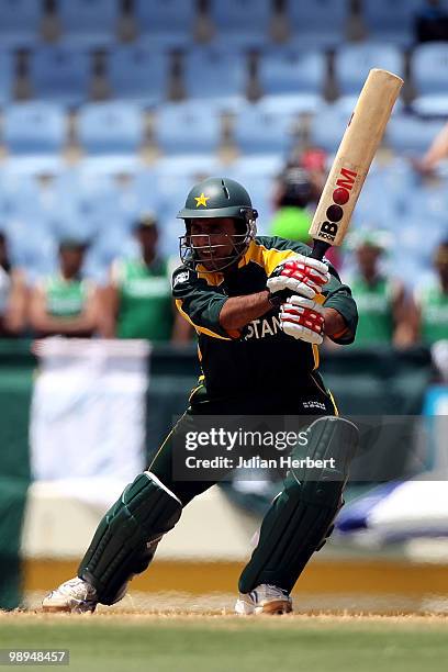
[[[250,197],[242,184],[229,178],[208,178],[194,184],[187,197],[184,208],[177,216],[184,220],[187,229],[186,235],[179,238],[181,260],[194,269],[200,261],[201,251],[209,253],[213,255],[214,268],[208,272],[214,272],[232,266],[245,254],[256,234],[258,212],[253,208]],[[228,240],[225,244],[215,242],[217,236],[222,240],[222,233],[191,235],[192,220],[223,217],[231,217],[236,224],[235,234],[227,235]],[[200,245],[204,237],[208,238],[206,245]],[[232,244],[233,253],[220,256],[220,248],[228,248],[228,243]]]

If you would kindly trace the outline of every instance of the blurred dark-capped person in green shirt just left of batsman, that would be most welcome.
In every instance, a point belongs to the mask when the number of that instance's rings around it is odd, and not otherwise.
[[[139,255],[112,264],[103,292],[100,333],[107,338],[146,338],[183,343],[191,327],[177,312],[170,285],[170,269],[158,256],[158,228],[153,214],[134,227]]]

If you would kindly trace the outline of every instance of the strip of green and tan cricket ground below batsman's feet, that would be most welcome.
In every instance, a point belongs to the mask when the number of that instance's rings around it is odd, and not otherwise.
[[[1,613],[0,648],[69,649],[70,672],[445,672],[448,617]]]

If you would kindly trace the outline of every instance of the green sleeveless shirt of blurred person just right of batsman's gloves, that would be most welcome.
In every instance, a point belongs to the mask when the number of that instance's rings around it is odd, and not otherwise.
[[[360,276],[349,280],[351,293],[358,306],[358,328],[355,346],[391,344],[393,338],[393,301],[396,284],[393,280],[378,277],[368,283]]]

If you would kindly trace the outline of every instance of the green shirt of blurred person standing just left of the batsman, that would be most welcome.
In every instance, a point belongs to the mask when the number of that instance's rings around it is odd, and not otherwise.
[[[169,340],[172,332],[172,299],[167,262],[156,259],[117,259],[112,280],[119,290],[119,338]]]

